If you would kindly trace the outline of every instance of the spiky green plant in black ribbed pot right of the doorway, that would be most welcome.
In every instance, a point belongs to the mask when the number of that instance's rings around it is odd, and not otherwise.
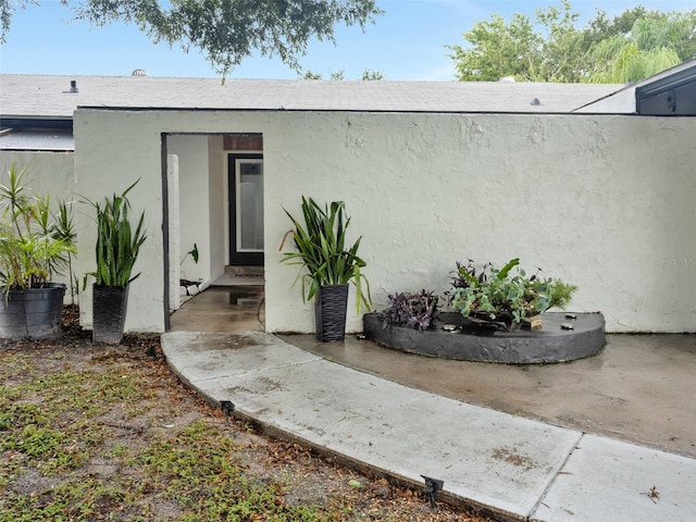
[[[356,287],[356,313],[360,313],[362,307],[369,309],[371,306],[370,283],[361,272],[365,262],[358,257],[362,236],[352,246],[347,246],[346,229],[350,217],[345,212],[343,201],[332,201],[322,208],[312,198],[303,196],[303,223],[285,210],[294,228],[283,237],[281,250],[291,236],[296,251],[285,252],[281,261],[300,266],[298,278],[302,278],[302,300],[315,299],[316,337],[321,341],[345,338],[348,283]]]

